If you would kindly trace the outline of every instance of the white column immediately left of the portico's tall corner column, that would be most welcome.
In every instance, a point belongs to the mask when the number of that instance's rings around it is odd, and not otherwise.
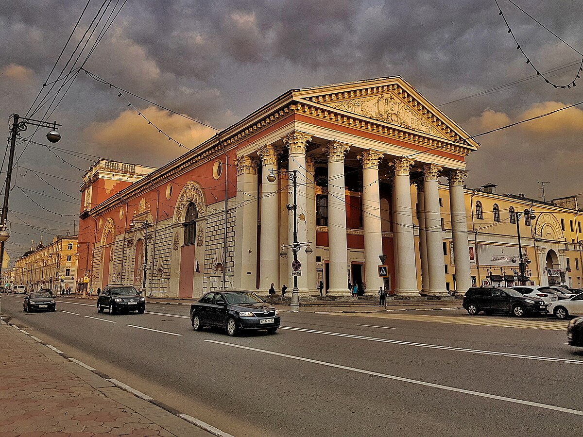
[[[257,151],[261,157],[261,253],[259,259],[259,290],[262,294],[268,294],[271,283],[279,284],[279,205],[278,182],[269,182],[267,177],[273,173],[277,175],[278,156],[277,151],[271,145],[265,145]]]

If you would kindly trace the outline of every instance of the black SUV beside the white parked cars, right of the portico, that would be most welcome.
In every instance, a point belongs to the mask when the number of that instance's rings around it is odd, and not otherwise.
[[[512,288],[472,287],[463,296],[463,308],[469,315],[480,311],[490,315],[494,312],[509,312],[522,317],[529,312],[546,313],[547,305],[538,297],[524,296]]]

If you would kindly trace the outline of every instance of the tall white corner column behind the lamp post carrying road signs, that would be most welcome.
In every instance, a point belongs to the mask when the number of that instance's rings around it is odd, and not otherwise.
[[[304,243],[307,241],[307,190],[306,190],[306,177],[305,177],[305,149],[306,143],[312,139],[311,135],[304,132],[293,131],[283,138],[283,143],[289,149],[289,161],[287,164],[287,170],[293,174],[296,170],[297,174],[297,188],[296,188],[296,204],[297,204],[297,241]],[[288,186],[288,202],[289,205],[293,205],[293,181],[289,181]],[[289,210],[288,214],[288,243],[293,244],[293,223],[294,223],[294,213],[293,210]],[[315,284],[308,284],[308,275],[305,274],[305,270],[308,267],[308,255],[305,253],[304,248],[301,248],[297,253],[297,259],[301,263],[301,276],[297,277],[297,287],[300,294],[308,294],[311,288],[315,288]],[[287,251],[287,263],[291,266],[293,260],[293,252],[291,249]],[[291,268],[290,268],[291,272]],[[293,284],[293,277],[289,277],[290,284]],[[289,288],[293,288],[289,286]]]

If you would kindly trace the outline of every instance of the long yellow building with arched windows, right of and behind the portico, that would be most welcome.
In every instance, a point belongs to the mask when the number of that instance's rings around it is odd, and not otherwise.
[[[417,196],[414,188],[413,196]],[[583,210],[579,208],[576,196],[542,202],[521,194],[500,195],[496,193],[496,185],[486,184],[477,189],[465,188],[465,204],[473,285],[510,287],[522,281],[532,285],[583,286]],[[440,185],[440,209],[446,288],[455,290],[449,190],[446,185]],[[417,282],[422,290],[417,217],[413,217],[413,223],[417,237]],[[524,276],[520,255],[525,262]]]

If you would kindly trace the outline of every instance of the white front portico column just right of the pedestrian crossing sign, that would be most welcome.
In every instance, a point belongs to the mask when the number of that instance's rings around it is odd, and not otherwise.
[[[419,296],[415,268],[415,237],[411,209],[411,185],[409,171],[413,165],[411,158],[401,157],[393,161],[395,167],[395,233],[398,234],[397,253],[399,270],[397,294]]]

